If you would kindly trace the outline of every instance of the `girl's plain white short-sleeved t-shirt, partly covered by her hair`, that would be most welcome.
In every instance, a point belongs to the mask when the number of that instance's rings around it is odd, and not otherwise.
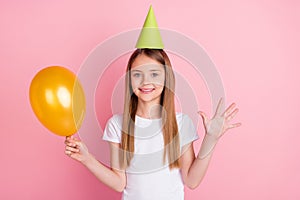
[[[122,115],[114,115],[106,124],[103,140],[121,143]],[[176,114],[180,146],[198,139],[192,120]],[[183,200],[184,185],[180,169],[169,169],[163,163],[164,139],[162,119],[146,119],[136,115],[134,156],[126,169],[127,184],[123,200]]]

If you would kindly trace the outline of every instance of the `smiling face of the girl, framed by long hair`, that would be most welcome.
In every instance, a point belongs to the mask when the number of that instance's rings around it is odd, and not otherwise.
[[[145,55],[139,55],[131,66],[131,86],[139,101],[159,104],[165,82],[162,64]]]

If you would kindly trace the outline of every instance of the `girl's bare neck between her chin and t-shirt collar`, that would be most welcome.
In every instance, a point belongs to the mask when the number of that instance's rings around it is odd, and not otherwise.
[[[136,114],[147,119],[161,118],[162,106],[159,102],[138,102]]]

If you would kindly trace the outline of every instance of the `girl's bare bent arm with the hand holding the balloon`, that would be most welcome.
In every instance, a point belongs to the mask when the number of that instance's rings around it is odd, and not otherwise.
[[[78,139],[67,137],[66,154],[82,163],[97,179],[115,191],[122,192],[126,186],[125,171],[119,167],[119,144],[110,142],[111,168],[104,166],[88,152],[86,145]]]

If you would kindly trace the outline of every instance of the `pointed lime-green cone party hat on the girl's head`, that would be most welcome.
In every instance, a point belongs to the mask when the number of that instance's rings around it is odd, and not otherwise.
[[[138,49],[163,49],[164,44],[162,42],[160,32],[156,23],[155,15],[150,6],[148,15],[144,22],[143,29],[140,33],[139,39],[135,45]]]

